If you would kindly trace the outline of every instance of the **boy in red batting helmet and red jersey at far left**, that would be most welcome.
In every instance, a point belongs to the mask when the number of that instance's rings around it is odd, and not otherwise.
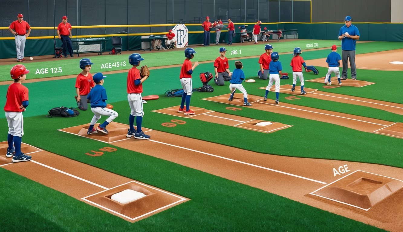
[[[14,83],[8,86],[6,94],[6,119],[8,123],[8,148],[6,157],[12,157],[12,162],[24,162],[32,159],[31,156],[21,152],[21,140],[24,135],[23,112],[28,107],[28,88],[22,83],[27,78],[29,70],[22,64],[17,64],[10,70]]]

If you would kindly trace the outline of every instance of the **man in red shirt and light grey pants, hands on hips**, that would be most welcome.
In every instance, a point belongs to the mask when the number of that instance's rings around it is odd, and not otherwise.
[[[8,30],[10,30],[10,32],[15,37],[15,48],[17,48],[17,62],[25,61],[25,39],[29,36],[29,33],[31,33],[31,27],[26,21],[23,21],[23,17],[23,14],[18,14],[17,20],[12,22],[8,27]]]

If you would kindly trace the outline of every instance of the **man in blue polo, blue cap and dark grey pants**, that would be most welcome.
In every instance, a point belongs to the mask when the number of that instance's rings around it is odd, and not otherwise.
[[[341,79],[347,79],[347,60],[350,60],[351,79],[357,79],[357,71],[355,70],[355,41],[359,39],[358,28],[351,24],[351,17],[346,16],[345,25],[340,28],[339,40],[341,40],[341,57],[343,61],[343,72]]]

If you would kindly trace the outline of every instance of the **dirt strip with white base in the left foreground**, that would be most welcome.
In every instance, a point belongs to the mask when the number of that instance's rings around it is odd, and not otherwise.
[[[1,142],[0,152],[5,154],[7,147],[7,141]],[[0,167],[96,206],[129,222],[137,222],[189,200],[28,144],[22,144],[21,149],[25,154],[32,155],[33,158],[30,162],[14,164],[11,162],[11,158],[2,155],[0,156]],[[112,147],[102,149],[105,152],[116,151]],[[113,194],[127,189],[143,193],[146,196],[126,204],[111,199]]]

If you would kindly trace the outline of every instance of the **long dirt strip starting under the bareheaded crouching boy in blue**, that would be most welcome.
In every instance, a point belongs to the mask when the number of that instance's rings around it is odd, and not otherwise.
[[[272,95],[274,95],[274,93],[272,93]],[[269,97],[272,95],[269,95]],[[208,97],[204,98],[204,100],[221,102],[234,106],[243,105],[243,95],[241,93],[235,93],[234,100],[232,102],[228,102],[228,94]],[[267,102],[264,102],[263,97],[255,95],[248,95],[248,102],[253,105],[250,106],[251,108],[262,111],[287,114],[299,118],[307,118],[320,122],[337,124],[340,126],[353,128],[358,131],[377,133],[403,139],[403,123],[401,122],[388,122],[375,118],[367,118],[353,114],[320,110],[316,108],[292,105],[283,102],[280,102],[280,104],[275,104],[273,99],[268,99]]]

